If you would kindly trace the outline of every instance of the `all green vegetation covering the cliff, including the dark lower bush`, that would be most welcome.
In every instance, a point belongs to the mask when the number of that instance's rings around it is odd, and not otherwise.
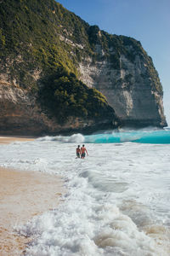
[[[139,55],[147,64],[145,75],[153,81],[153,90],[162,92],[150,57],[135,39],[89,26],[54,0],[1,1],[2,73],[8,73],[20,88],[36,93],[60,121],[70,115],[99,119],[107,111],[112,114],[105,97],[78,80],[77,67],[89,57],[94,63],[105,58],[120,70],[121,55],[131,62]]]

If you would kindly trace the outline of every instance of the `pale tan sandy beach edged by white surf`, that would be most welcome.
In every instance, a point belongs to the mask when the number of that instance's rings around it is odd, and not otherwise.
[[[3,137],[0,142],[30,139]],[[14,227],[57,207],[62,193],[63,183],[59,177],[0,167],[0,256],[17,256],[24,252],[31,238],[19,236]]]

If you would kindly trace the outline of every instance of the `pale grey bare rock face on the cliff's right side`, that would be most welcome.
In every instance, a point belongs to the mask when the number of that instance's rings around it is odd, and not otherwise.
[[[166,126],[162,91],[156,90],[148,75],[147,62],[139,55],[133,62],[121,55],[120,66],[120,69],[114,69],[106,59],[96,61],[94,65],[92,59],[88,58],[80,63],[79,70],[85,84],[106,96],[122,125]]]

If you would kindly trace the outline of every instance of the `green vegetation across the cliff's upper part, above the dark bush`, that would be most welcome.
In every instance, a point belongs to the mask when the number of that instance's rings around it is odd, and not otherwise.
[[[147,63],[153,90],[161,92],[153,63],[139,41],[100,31],[99,26],[89,26],[54,0],[1,1],[2,71],[24,89],[35,88],[35,70],[41,71],[42,77],[56,73],[62,66],[78,78],[79,63],[89,57],[94,64],[107,59],[111,67],[120,70],[121,55],[133,62],[137,54]]]

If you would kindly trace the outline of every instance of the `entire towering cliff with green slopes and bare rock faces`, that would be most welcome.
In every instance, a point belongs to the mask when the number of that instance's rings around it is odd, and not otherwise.
[[[1,134],[167,125],[139,41],[89,26],[54,0],[2,1],[0,55]]]

